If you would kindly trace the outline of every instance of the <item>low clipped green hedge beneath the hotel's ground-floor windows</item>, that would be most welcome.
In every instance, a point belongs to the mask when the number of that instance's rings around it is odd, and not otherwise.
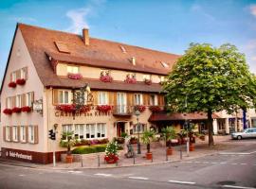
[[[98,145],[98,146],[81,146],[77,147],[72,150],[73,154],[90,154],[90,153],[98,153],[98,152],[104,152],[106,149],[106,145]],[[119,150],[121,150],[122,147],[119,146]]]

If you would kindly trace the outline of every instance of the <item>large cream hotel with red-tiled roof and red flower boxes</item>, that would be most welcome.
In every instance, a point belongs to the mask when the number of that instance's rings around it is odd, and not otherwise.
[[[55,149],[59,160],[65,151],[59,145],[61,133],[66,130],[73,130],[78,140],[111,140],[122,132],[137,135],[170,124],[179,131],[185,119],[197,123],[199,131],[206,129],[206,116],[200,112],[187,117],[161,112],[161,82],[179,57],[90,38],[88,29],[76,35],[17,24],[1,86],[2,156],[51,163]],[[74,112],[75,94],[84,85],[89,87],[85,103]],[[233,120],[223,117],[214,114],[216,133]],[[48,139],[54,126],[55,142]]]

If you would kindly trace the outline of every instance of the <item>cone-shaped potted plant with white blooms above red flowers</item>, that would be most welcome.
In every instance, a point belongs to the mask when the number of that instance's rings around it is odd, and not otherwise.
[[[117,141],[112,141],[107,144],[104,157],[106,163],[117,163],[119,161],[118,149]]]

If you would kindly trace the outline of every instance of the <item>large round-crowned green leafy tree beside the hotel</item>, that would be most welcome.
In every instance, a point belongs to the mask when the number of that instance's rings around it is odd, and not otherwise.
[[[163,85],[172,112],[206,112],[213,146],[212,112],[255,107],[256,78],[245,55],[229,43],[212,47],[192,43]]]

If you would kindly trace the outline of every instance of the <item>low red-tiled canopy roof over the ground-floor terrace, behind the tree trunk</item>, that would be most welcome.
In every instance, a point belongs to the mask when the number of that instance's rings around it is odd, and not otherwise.
[[[215,113],[212,113],[213,119],[220,118]],[[152,113],[149,121],[150,122],[157,122],[157,121],[175,121],[175,120],[206,120],[207,113],[205,112],[192,112],[192,113],[168,113],[168,112],[155,112]]]

